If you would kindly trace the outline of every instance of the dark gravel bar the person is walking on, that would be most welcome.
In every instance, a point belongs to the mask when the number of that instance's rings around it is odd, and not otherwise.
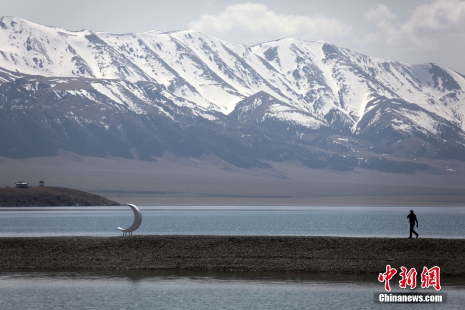
[[[0,237],[0,269],[178,269],[379,273],[437,265],[465,275],[465,239],[133,235]]]

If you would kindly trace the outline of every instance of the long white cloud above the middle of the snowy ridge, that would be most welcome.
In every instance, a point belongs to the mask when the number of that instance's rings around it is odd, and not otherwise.
[[[300,39],[326,39],[347,35],[349,25],[319,14],[312,16],[284,15],[269,10],[260,3],[237,3],[227,6],[217,15],[204,14],[188,24],[193,30],[214,35],[243,33],[272,35]],[[258,42],[257,42],[258,43]]]

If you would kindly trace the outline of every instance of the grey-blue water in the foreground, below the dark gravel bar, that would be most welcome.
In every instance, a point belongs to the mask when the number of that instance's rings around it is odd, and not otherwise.
[[[374,274],[0,271],[1,309],[463,309],[465,279],[441,277],[445,304],[375,304]],[[392,291],[405,291],[393,288]],[[433,291],[416,288],[415,292]]]

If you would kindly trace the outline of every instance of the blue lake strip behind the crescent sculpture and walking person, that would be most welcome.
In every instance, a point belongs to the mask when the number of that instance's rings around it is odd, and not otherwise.
[[[137,234],[406,237],[409,207],[141,206]],[[420,237],[465,237],[465,207],[415,207]],[[127,206],[2,207],[0,236],[112,236],[129,227]]]

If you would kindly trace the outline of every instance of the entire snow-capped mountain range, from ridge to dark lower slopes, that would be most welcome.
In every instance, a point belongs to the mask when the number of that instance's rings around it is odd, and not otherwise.
[[[155,160],[168,150],[340,169],[379,168],[381,154],[465,160],[464,88],[464,75],[437,64],[321,41],[248,47],[191,30],[67,31],[0,17],[6,157],[63,148]]]

